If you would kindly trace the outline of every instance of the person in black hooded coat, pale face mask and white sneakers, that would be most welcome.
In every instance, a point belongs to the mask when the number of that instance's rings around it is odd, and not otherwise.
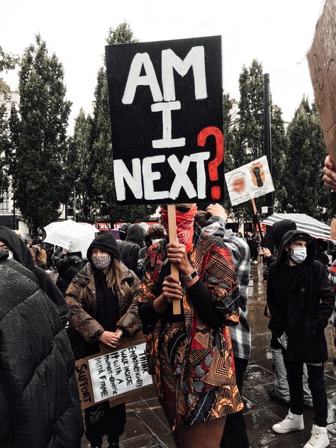
[[[291,404],[289,414],[273,425],[273,430],[285,433],[304,428],[302,374],[306,362],[315,417],[310,440],[304,448],[324,448],[329,444],[323,375],[327,360],[324,329],[334,308],[335,295],[325,268],[315,260],[315,255],[313,238],[290,230],[281,241],[276,262],[269,267],[267,281],[269,328],[284,347]]]

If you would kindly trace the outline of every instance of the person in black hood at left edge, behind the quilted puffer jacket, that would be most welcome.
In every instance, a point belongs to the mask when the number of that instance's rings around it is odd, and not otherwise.
[[[4,225],[0,225],[0,248],[8,250],[10,258],[13,257],[16,262],[19,262],[33,272],[38,279],[40,289],[47,294],[50,301],[52,301],[55,305],[58,315],[60,315],[60,319],[62,320],[62,324],[65,326],[67,320],[69,319],[70,310],[69,306],[67,306],[65,298],[62,296],[62,293],[47,272],[40,267],[35,266],[30,250],[28,250],[28,247],[26,247],[23,240],[21,240],[21,238],[16,235],[13,230],[5,227]]]

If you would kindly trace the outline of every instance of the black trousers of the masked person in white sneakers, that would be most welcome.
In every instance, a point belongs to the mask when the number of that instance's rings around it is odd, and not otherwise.
[[[289,395],[291,396],[291,412],[296,415],[303,413],[303,362],[289,362],[286,351],[283,350],[284,362],[289,382]],[[314,422],[318,426],[327,426],[327,392],[325,391],[324,365],[312,366],[307,364],[308,386],[313,398],[315,413]]]

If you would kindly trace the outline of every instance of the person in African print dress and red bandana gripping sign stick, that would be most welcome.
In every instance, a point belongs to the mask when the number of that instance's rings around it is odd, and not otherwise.
[[[227,326],[238,323],[239,287],[223,241],[194,233],[196,211],[177,206],[179,242],[165,238],[148,249],[139,315],[177,447],[218,448],[226,415],[243,408]],[[166,206],[162,223],[169,233]],[[173,314],[172,300],[181,301],[181,314]]]

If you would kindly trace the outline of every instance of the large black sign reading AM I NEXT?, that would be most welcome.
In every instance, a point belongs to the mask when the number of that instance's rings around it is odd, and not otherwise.
[[[220,36],[106,46],[116,202],[222,201]]]

